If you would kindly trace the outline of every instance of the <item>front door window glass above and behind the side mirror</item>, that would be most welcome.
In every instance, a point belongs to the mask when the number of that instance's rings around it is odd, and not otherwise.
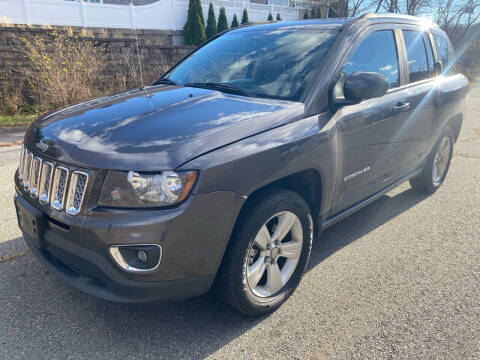
[[[392,30],[374,32],[362,41],[343,69],[347,76],[356,71],[382,74],[390,88],[400,86],[397,45]]]

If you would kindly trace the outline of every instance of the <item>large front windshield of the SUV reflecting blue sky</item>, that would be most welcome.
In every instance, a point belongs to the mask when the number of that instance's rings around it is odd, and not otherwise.
[[[237,89],[247,96],[297,101],[336,33],[305,29],[229,32],[200,48],[163,78],[178,85],[203,84],[226,92]]]

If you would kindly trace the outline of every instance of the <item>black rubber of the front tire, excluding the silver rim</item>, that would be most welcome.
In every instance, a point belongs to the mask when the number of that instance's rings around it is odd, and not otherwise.
[[[240,215],[225,252],[217,275],[216,290],[224,301],[238,311],[249,316],[260,316],[279,308],[300,283],[312,249],[313,222],[305,200],[289,190],[276,189],[249,201]],[[252,244],[263,225],[268,223],[272,216],[282,212],[291,212],[300,220],[303,235],[301,254],[295,270],[279,291],[271,296],[258,296],[247,281]],[[288,234],[287,236],[290,236],[291,233]],[[298,234],[299,232],[297,236]],[[280,260],[278,261],[280,266]],[[274,262],[276,263],[276,260]]]

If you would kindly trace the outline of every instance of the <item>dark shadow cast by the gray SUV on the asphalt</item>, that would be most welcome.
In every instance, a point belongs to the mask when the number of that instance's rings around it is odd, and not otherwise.
[[[425,198],[411,189],[385,195],[335,224],[315,243],[308,270]],[[1,263],[0,280],[0,339],[9,359],[202,359],[266,320],[240,315],[212,294],[168,305],[98,300],[64,284],[30,253]]]

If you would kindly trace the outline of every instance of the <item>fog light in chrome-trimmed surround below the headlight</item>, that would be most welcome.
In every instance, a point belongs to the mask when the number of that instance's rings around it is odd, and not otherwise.
[[[162,247],[157,244],[113,245],[110,255],[127,272],[155,271],[162,260]]]

